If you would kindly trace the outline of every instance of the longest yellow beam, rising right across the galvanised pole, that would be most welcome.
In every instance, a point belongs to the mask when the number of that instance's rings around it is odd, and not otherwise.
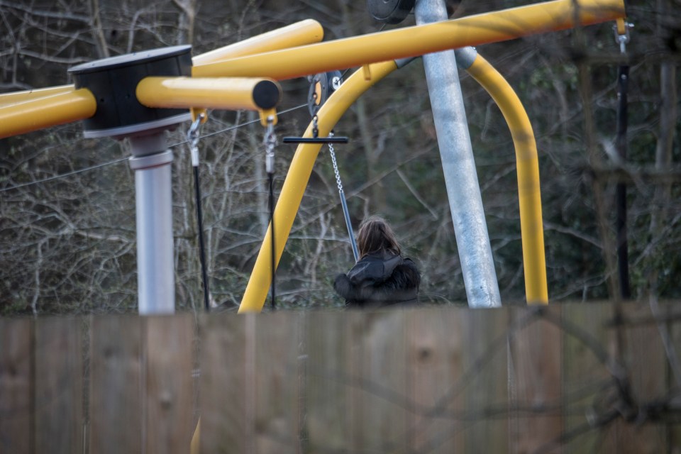
[[[555,0],[421,26],[275,50],[192,68],[194,77],[272,77],[307,74],[495,43],[624,17],[624,0]]]

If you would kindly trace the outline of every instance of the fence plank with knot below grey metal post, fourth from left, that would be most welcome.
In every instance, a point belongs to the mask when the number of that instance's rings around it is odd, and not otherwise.
[[[194,427],[191,314],[143,319],[145,453],[187,454]]]

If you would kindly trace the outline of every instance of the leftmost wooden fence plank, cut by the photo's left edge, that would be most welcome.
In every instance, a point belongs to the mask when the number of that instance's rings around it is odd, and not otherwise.
[[[33,453],[33,323],[0,319],[0,452]]]

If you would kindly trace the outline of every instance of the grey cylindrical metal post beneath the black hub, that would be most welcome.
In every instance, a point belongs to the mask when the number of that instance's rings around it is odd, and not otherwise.
[[[175,312],[172,240],[172,186],[164,132],[130,138],[137,209],[139,313]]]

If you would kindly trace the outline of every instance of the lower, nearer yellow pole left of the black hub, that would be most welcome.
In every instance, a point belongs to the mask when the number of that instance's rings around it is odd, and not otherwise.
[[[0,107],[0,138],[38,131],[94,115],[97,103],[88,89]]]

